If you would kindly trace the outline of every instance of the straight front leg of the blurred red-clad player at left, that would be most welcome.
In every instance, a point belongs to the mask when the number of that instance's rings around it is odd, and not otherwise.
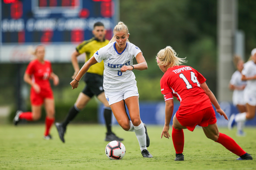
[[[49,134],[50,128],[55,121],[55,106],[54,106],[54,99],[46,98],[44,100],[44,108],[46,112],[45,117],[45,131],[44,131],[44,139],[49,140],[51,136]]]

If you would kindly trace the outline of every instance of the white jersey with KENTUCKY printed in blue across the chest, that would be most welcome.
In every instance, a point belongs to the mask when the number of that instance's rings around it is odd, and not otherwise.
[[[97,62],[104,62],[103,88],[108,92],[123,90],[131,85],[136,85],[135,75],[132,71],[121,72],[123,65],[132,65],[132,59],[141,52],[134,44],[127,42],[125,49],[118,53],[112,42],[94,53]]]

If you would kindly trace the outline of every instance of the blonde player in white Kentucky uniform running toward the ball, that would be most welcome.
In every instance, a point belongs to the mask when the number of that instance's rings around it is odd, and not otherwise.
[[[147,64],[140,49],[130,43],[128,37],[127,26],[123,22],[118,22],[113,29],[113,37],[109,44],[94,53],[70,84],[72,89],[77,88],[79,80],[88,68],[103,60],[103,88],[115,119],[123,130],[135,132],[142,156],[151,158],[152,155],[146,148],[149,146],[149,138],[146,126],[140,120],[138,90],[132,72],[133,69],[147,69]],[[132,65],[134,57],[138,64]],[[131,121],[126,115],[124,103]]]

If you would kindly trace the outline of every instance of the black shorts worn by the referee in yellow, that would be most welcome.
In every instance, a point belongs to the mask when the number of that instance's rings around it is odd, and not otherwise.
[[[82,90],[82,93],[90,98],[94,95],[98,96],[103,90],[103,76],[93,73],[85,73],[83,77],[86,86]]]

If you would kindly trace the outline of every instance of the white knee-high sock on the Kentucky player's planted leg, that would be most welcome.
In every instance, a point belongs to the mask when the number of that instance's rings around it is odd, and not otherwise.
[[[144,124],[141,122],[138,126],[134,126],[134,132],[138,140],[140,151],[146,149],[146,134]]]

